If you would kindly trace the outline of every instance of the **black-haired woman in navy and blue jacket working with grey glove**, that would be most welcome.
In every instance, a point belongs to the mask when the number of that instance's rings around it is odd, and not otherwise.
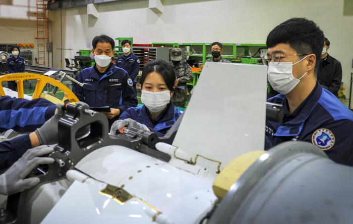
[[[110,134],[123,127],[135,127],[163,136],[181,116],[170,97],[175,88],[173,67],[162,60],[151,61],[143,69],[140,84],[141,101],[144,105],[129,108],[114,122]]]

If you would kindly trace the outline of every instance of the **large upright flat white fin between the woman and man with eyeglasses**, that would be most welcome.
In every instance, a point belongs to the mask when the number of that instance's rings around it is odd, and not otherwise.
[[[221,168],[263,150],[266,89],[267,66],[207,62],[173,145],[221,161]]]

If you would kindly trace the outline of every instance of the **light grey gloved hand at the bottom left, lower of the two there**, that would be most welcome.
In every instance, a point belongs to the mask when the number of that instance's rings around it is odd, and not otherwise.
[[[27,150],[5,173],[0,175],[0,194],[11,195],[39,183],[38,177],[26,178],[39,164],[50,164],[53,158],[38,157],[53,151],[52,147],[38,146]]]

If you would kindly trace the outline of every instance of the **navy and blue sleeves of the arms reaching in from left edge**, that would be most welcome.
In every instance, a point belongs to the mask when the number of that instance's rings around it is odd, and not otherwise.
[[[18,132],[34,131],[54,115],[55,109],[55,104],[43,98],[27,100],[1,96],[0,131],[8,129]],[[33,147],[29,135],[0,142],[0,170],[9,168],[31,148]]]

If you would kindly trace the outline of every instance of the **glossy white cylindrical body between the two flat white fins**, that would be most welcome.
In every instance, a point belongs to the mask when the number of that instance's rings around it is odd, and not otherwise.
[[[124,185],[129,193],[157,207],[175,223],[198,223],[216,200],[211,181],[123,146],[95,150],[76,168],[101,182]]]

